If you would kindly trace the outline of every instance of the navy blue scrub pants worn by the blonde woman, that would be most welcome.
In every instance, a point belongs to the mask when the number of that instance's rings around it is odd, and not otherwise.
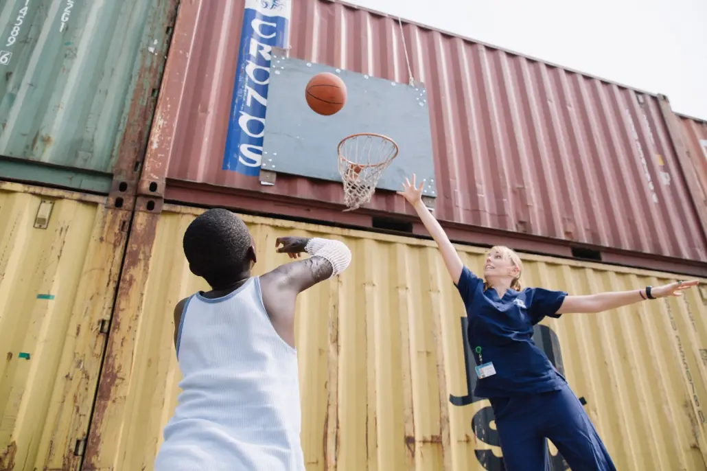
[[[572,471],[616,471],[581,403],[568,385],[561,390],[493,398],[506,471],[549,471],[546,438]]]

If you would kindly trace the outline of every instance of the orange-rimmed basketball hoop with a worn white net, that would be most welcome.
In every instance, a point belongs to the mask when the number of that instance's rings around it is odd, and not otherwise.
[[[337,152],[344,204],[349,207],[344,211],[352,211],[373,197],[380,175],[397,156],[398,146],[390,137],[361,132],[341,139]]]

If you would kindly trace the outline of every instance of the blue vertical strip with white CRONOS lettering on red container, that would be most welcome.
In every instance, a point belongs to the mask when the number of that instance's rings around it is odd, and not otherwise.
[[[223,170],[257,176],[273,47],[286,47],[291,0],[246,0]]]

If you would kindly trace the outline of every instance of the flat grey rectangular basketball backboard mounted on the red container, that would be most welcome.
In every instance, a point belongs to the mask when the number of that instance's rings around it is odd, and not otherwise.
[[[436,197],[432,136],[427,94],[409,86],[322,64],[285,57],[274,50],[270,66],[262,169],[320,180],[341,181],[337,146],[358,132],[389,136],[398,156],[376,188],[400,190],[415,173],[426,180],[424,194]],[[337,74],[346,83],[344,108],[331,116],[313,112],[305,100],[308,81],[321,72]]]

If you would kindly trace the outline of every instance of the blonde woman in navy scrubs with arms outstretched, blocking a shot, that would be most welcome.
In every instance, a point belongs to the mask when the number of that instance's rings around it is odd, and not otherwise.
[[[615,470],[607,449],[577,397],[532,340],[533,325],[545,316],[598,313],[645,299],[682,296],[697,281],[678,281],[633,291],[568,296],[563,291],[520,286],[522,264],[506,247],[495,247],[484,279],[464,267],[442,227],[422,203],[424,182],[415,176],[399,192],[415,208],[440,248],[469,319],[468,338],[479,380],[474,395],[491,401],[507,471],[549,470],[546,438],[573,471]]]

